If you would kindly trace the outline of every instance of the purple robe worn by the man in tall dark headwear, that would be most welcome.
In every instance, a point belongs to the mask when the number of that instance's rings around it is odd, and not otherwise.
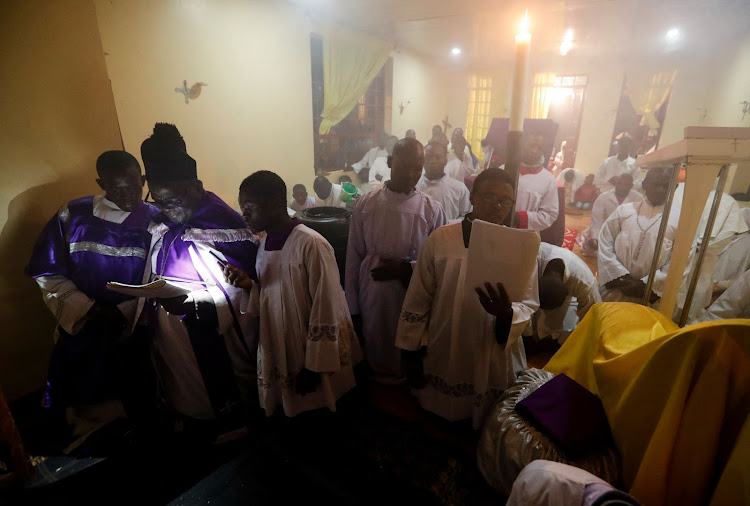
[[[229,414],[240,400],[254,399],[257,321],[240,312],[242,290],[224,280],[217,255],[255,278],[257,237],[243,218],[210,192],[186,223],[160,216],[152,234],[144,283],[159,276],[192,290],[198,316],[170,315],[146,305],[154,332],[157,374],[167,402],[199,419]],[[203,308],[208,307],[208,311]],[[213,307],[217,321],[209,319]],[[190,314],[190,312],[188,313]],[[203,320],[200,316],[203,316]]]

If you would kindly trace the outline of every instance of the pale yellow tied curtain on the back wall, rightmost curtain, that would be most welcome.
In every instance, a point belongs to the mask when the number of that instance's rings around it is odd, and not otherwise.
[[[659,128],[655,113],[664,105],[677,79],[677,71],[654,72],[637,68],[627,71],[627,89],[635,112],[643,116],[641,125],[648,125],[649,133]]]

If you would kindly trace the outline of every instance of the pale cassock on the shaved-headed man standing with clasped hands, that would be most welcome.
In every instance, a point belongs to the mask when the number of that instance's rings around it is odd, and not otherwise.
[[[416,190],[396,193],[384,187],[360,197],[349,222],[346,300],[351,314],[362,315],[365,357],[372,370],[402,376],[396,328],[406,289],[399,280],[374,281],[370,271],[382,258],[417,260],[445,213],[432,197]]]

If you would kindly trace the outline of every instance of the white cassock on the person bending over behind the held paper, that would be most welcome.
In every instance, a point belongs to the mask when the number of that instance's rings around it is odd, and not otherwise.
[[[550,260],[555,258],[559,258],[565,264],[563,283],[568,289],[568,298],[557,309],[537,311],[534,323],[539,337],[550,336],[563,343],[578,322],[586,316],[591,306],[601,302],[602,298],[594,273],[586,262],[567,248],[559,248],[546,242],[539,245],[537,267],[540,276],[544,274]]]

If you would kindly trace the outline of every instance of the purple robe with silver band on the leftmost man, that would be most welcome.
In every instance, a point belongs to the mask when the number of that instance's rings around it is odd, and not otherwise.
[[[26,273],[36,279],[58,321],[46,405],[94,404],[113,397],[113,336],[88,325],[94,302],[117,305],[134,323],[136,301],[107,290],[109,281],[140,283],[158,210],[126,213],[104,197],[62,206],[42,230]]]

